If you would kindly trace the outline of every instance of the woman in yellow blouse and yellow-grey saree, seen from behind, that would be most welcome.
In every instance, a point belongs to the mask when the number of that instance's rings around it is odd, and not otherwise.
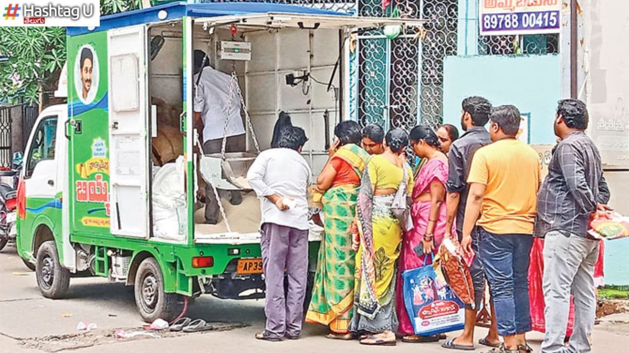
[[[362,335],[360,344],[396,344],[395,278],[402,227],[392,214],[391,204],[404,175],[407,192],[413,189],[411,168],[400,157],[407,145],[406,131],[389,131],[386,151],[372,156],[360,184],[354,232],[357,236],[353,242],[357,248],[354,313],[350,322],[350,330]]]

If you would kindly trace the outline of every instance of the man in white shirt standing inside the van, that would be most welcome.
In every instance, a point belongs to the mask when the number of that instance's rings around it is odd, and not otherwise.
[[[203,126],[203,153],[218,153],[223,146],[226,133],[226,151],[245,150],[245,127],[240,116],[240,96],[238,87],[231,87],[231,76],[214,70],[203,50],[194,51],[194,126]],[[226,128],[226,129],[225,129]],[[239,191],[231,192],[230,202],[242,202]],[[216,224],[219,221],[218,201],[212,185],[205,188],[205,221]]]

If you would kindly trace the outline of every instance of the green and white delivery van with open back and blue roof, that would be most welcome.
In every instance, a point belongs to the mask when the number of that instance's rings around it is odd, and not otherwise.
[[[306,129],[304,158],[320,170],[329,129],[355,104],[348,63],[357,49],[348,43],[359,28],[419,25],[280,4],[169,3],[105,16],[97,28],[67,28],[60,79],[67,104],[38,117],[18,187],[18,253],[35,264],[42,294],[63,298],[73,276],[106,277],[135,286],[147,321],[174,318],[184,296],[263,298],[260,209],[243,182],[247,166],[269,147],[286,111]],[[242,153],[198,163],[195,49],[233,73],[247,127]],[[181,112],[181,156],[161,168],[152,158],[162,123],[153,98]],[[220,189],[242,189],[242,204],[221,202],[220,224],[204,224],[203,210],[195,210],[197,168]],[[170,194],[158,195],[165,188]],[[320,236],[313,225],[312,271]]]

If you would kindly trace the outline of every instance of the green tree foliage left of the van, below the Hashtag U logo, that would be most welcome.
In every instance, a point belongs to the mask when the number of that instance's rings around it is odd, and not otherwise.
[[[65,62],[65,28],[0,27],[0,100],[39,100],[40,87],[50,90]]]

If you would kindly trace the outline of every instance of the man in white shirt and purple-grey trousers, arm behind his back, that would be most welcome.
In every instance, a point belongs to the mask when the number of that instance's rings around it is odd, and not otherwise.
[[[298,339],[308,280],[308,200],[310,168],[301,148],[304,130],[282,131],[277,148],[262,151],[249,168],[247,179],[262,209],[262,262],[266,283],[264,332],[261,340]],[[284,296],[284,269],[288,291]]]

